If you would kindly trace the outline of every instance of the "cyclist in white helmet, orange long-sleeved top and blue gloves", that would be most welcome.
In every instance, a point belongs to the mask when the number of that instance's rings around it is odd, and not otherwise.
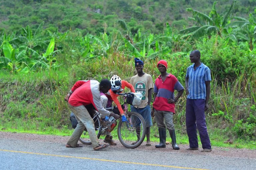
[[[115,104],[117,105],[117,108],[120,112],[120,116],[122,116],[122,121],[125,122],[127,121],[126,117],[124,116],[124,111],[121,107],[120,102],[118,101],[117,97],[119,96],[117,93],[122,93],[123,89],[125,87],[128,87],[131,92],[135,93],[135,90],[133,88],[133,86],[128,83],[125,80],[121,80],[120,77],[118,77],[117,75],[113,75],[110,79],[111,82],[111,89],[109,90],[108,93],[101,93],[101,102],[102,102],[102,106],[103,107],[111,107],[111,103],[112,101],[115,102]],[[111,131],[113,130],[113,128],[111,128]],[[113,141],[112,136],[110,131],[107,133],[104,142],[109,143],[110,145],[116,145],[116,142]]]

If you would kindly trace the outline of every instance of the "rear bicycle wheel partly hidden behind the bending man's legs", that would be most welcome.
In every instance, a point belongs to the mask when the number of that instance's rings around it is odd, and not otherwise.
[[[97,113],[97,111],[94,111],[95,114]],[[100,118],[97,116],[93,119],[94,121],[94,127],[95,127],[95,132],[97,134],[97,137],[100,138],[101,135],[101,124],[100,124]],[[85,128],[84,132],[82,133],[81,137],[79,138],[79,141],[83,144],[87,144],[90,145],[92,144],[90,136]]]

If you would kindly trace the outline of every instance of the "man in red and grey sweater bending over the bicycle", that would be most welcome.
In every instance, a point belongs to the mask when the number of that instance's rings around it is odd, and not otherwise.
[[[65,100],[68,101],[69,107],[74,113],[78,124],[68,140],[66,147],[81,147],[77,142],[85,128],[89,133],[94,150],[101,150],[109,146],[109,144],[99,144],[93,119],[85,106],[92,104],[102,115],[113,116],[115,119],[119,119],[119,115],[110,113],[101,105],[100,91],[107,93],[110,88],[111,83],[108,79],[103,79],[100,83],[96,80],[77,81],[71,88]]]

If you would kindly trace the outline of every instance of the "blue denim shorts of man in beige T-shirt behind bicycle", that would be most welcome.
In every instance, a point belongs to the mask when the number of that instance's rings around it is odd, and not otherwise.
[[[146,127],[151,127],[153,125],[151,120],[151,109],[149,105],[147,105],[145,108],[136,108],[131,105],[131,111],[137,112],[143,117],[146,123]]]

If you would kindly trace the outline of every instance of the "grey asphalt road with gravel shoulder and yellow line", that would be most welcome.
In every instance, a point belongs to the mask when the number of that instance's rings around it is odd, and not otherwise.
[[[91,145],[66,148],[64,144],[0,136],[0,169],[256,169],[254,158],[210,155],[199,151],[184,153],[170,147],[127,149],[109,146],[94,151]]]

